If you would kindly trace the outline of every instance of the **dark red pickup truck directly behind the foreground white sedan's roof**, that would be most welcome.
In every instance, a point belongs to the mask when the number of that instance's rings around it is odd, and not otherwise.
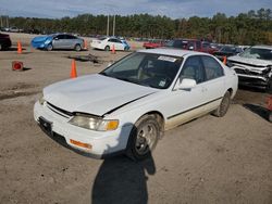
[[[174,39],[168,42],[166,47],[206,52],[210,54],[213,54],[213,52],[218,51],[218,49],[212,47],[210,42],[197,39]]]

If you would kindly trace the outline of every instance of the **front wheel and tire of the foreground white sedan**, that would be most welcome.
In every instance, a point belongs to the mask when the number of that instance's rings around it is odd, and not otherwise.
[[[131,131],[126,155],[133,161],[143,161],[151,155],[161,133],[161,126],[154,115],[145,115]]]

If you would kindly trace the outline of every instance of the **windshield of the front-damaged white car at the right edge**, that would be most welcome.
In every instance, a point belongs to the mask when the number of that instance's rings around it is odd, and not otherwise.
[[[248,48],[240,54],[240,56],[248,58],[248,59],[259,59],[259,60],[272,61],[272,49]]]

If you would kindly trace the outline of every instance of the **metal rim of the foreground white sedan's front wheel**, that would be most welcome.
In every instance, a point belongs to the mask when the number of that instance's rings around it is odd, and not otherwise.
[[[146,124],[140,129],[138,129],[138,135],[136,138],[136,152],[140,155],[149,152],[156,141],[157,130],[153,124]]]

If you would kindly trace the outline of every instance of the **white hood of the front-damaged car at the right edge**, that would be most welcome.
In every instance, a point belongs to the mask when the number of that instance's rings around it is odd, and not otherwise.
[[[268,65],[272,65],[271,61],[242,58],[239,55],[230,56],[230,58],[227,58],[227,60],[230,60],[232,62],[235,62],[235,63],[246,64],[246,65],[249,65],[249,66],[251,65],[251,66],[255,66],[255,67],[264,67],[264,66],[268,66]]]

